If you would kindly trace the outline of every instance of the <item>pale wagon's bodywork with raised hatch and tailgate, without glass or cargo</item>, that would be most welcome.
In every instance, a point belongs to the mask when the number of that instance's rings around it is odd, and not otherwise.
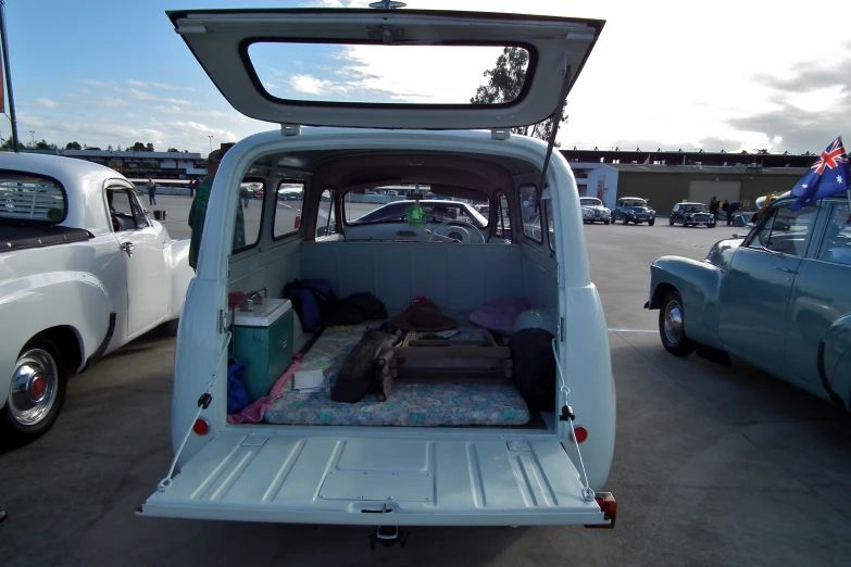
[[[576,182],[567,162],[553,152],[547,188],[537,190],[549,155],[547,143],[510,136],[502,128],[540,122],[554,112],[562,85],[567,90],[575,80],[602,23],[402,10],[170,16],[237,110],[270,122],[286,116],[289,124],[239,141],[216,174],[205,220],[215,231],[204,232],[212,238],[201,243],[198,276],[187,293],[177,338],[172,406],[176,474],[168,471],[139,515],[364,526],[612,527],[611,494],[595,491],[603,490],[612,465],[615,388]],[[422,34],[437,41],[523,39],[537,52],[535,79],[511,111],[368,104],[352,111],[345,104],[273,101],[254,90],[239,56],[238,46],[251,37],[286,41],[317,34],[317,39],[345,42],[361,37],[365,28],[385,25],[404,26],[405,37],[413,40]],[[490,126],[493,131],[476,131]],[[437,165],[427,163],[429,156]],[[358,168],[371,160],[378,164],[373,175],[360,175]],[[320,196],[329,188],[337,190],[331,203],[339,219],[347,190],[384,181],[430,184],[437,194],[449,194],[435,189],[436,182],[448,182],[438,179],[443,172],[475,173],[477,167],[484,177],[463,181],[454,197],[468,199],[474,189],[484,191],[492,219],[498,191],[504,191],[510,226],[521,228],[511,241],[495,239],[495,222],[488,226],[490,239],[483,243],[349,241],[359,227],[339,222],[336,234],[317,237],[314,231],[320,207],[328,206]],[[268,182],[303,178],[303,222],[276,238],[268,227],[278,213],[264,209],[261,227],[267,228],[261,229],[255,245],[231,250],[238,203],[229,188],[249,171],[267,172]],[[492,180],[488,172],[496,176]],[[546,215],[551,220],[545,222]],[[411,229],[417,228],[412,224]],[[285,282],[315,277],[333,281],[338,297],[373,292],[388,312],[404,308],[418,294],[467,312],[506,293],[523,295],[531,307],[518,325],[554,331],[550,344],[561,368],[553,382],[558,407],[542,412],[542,425],[531,429],[229,421],[228,294],[265,288],[267,297],[280,298]],[[207,393],[212,399],[202,396]],[[560,419],[571,413],[568,405],[576,412],[573,421]],[[586,440],[577,441],[574,425],[588,431]]]

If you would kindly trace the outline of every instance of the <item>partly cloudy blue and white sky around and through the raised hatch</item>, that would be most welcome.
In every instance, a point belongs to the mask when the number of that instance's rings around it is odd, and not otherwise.
[[[218,93],[165,10],[364,7],[368,0],[11,0],[10,61],[23,141],[122,148],[153,142],[207,153],[274,126]],[[408,0],[409,8],[606,21],[568,98],[562,148],[821,152],[851,146],[851,4],[789,0]],[[496,53],[446,48],[258,47],[273,94],[302,99],[463,102]],[[384,50],[381,50],[384,51]],[[439,53],[436,53],[438,51]],[[8,109],[7,109],[8,113]],[[35,134],[30,134],[30,130]],[[0,136],[11,131],[8,117]]]

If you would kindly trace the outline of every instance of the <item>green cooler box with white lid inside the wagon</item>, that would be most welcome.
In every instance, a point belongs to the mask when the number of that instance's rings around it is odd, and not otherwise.
[[[234,356],[245,363],[248,403],[268,394],[292,362],[292,304],[263,298],[253,311],[234,313]]]

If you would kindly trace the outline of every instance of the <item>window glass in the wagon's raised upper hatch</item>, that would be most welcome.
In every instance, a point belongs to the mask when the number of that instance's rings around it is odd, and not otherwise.
[[[523,94],[529,52],[510,50],[520,86],[478,92],[506,46],[342,45],[259,41],[248,58],[263,88],[288,101],[373,104],[512,103]],[[448,88],[449,86],[449,88]],[[505,90],[505,89],[503,89]],[[481,94],[481,96],[478,96]]]

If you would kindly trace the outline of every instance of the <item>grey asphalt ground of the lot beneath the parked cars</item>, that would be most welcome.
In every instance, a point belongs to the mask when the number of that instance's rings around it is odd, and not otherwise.
[[[189,199],[159,201],[187,237]],[[421,528],[371,552],[358,527],[136,517],[172,458],[174,340],[153,331],[75,377],[49,434],[0,455],[0,565],[847,566],[851,419],[739,361],[667,354],[642,310],[652,260],[742,230],[585,227],[612,329],[614,530]]]

